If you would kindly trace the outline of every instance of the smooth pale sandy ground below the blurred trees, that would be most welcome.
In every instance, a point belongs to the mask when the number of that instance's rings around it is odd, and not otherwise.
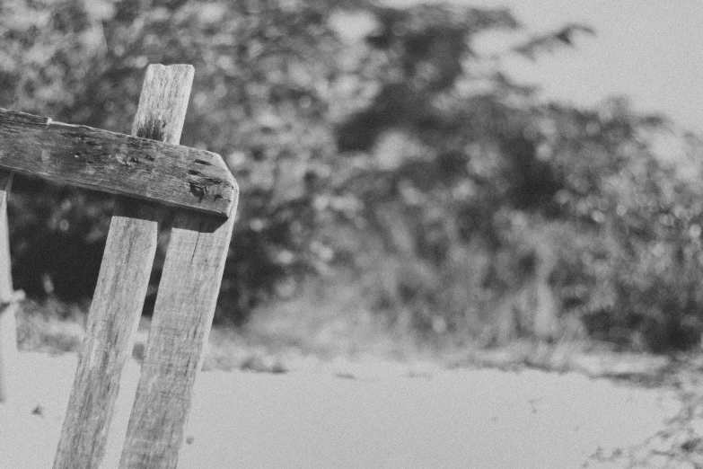
[[[22,381],[0,404],[0,467],[51,467],[75,362],[20,354]],[[126,431],[137,378],[130,362],[112,434]],[[592,456],[641,443],[679,406],[669,391],[535,370],[338,362],[279,375],[208,371],[179,467],[622,467]],[[110,444],[104,467],[117,466],[119,449]]]

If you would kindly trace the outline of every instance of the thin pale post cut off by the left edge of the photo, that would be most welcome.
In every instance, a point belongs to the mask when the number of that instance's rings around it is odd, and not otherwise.
[[[0,402],[12,394],[14,367],[17,360],[16,303],[10,262],[10,238],[7,229],[7,194],[13,173],[0,171]]]

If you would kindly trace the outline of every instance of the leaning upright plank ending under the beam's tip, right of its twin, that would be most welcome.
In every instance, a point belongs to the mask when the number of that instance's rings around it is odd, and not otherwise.
[[[121,468],[178,463],[233,223],[185,211],[174,219]]]

